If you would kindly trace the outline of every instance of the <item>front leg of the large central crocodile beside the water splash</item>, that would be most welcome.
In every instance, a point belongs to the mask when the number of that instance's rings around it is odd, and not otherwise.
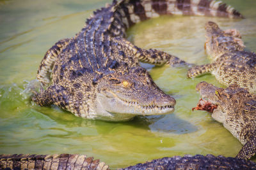
[[[70,95],[68,94],[69,92],[65,87],[61,85],[51,85],[43,92],[36,93],[35,96],[32,97],[32,101],[40,106],[55,104],[65,110],[69,110],[68,104],[70,103],[70,99],[68,96]]]

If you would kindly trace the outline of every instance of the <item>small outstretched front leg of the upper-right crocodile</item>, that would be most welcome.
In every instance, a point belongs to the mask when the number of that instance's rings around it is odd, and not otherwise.
[[[199,76],[200,74],[209,73],[216,67],[216,63],[205,64],[202,66],[195,66],[188,70],[188,78]]]

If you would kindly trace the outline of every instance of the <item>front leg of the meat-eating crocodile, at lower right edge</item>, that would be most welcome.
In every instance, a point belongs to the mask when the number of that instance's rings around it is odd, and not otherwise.
[[[236,158],[237,159],[250,159],[256,153],[256,134],[253,134],[253,137],[250,138],[239,151]]]

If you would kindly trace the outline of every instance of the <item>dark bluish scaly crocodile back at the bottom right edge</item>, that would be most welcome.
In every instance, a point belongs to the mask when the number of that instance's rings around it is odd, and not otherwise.
[[[248,160],[235,159],[232,157],[223,157],[214,155],[185,155],[184,157],[165,157],[156,159],[144,164],[125,167],[124,170],[164,170],[164,169],[256,169],[255,162]]]

